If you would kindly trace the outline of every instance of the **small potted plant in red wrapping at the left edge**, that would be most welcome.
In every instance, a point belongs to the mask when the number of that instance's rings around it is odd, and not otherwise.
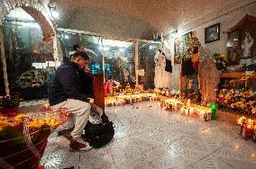
[[[6,116],[15,116],[19,108],[20,102],[10,96],[0,98],[0,112]]]

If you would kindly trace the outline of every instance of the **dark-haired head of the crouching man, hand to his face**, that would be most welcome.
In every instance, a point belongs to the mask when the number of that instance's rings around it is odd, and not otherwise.
[[[80,70],[86,72],[89,71],[87,65],[90,61],[90,58],[87,56],[85,52],[75,52],[70,58],[70,61],[76,63]]]

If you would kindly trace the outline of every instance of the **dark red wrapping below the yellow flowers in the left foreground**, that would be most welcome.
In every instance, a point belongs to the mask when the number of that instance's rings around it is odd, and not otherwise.
[[[5,134],[0,137],[1,155],[4,163],[8,164],[10,168],[31,168],[38,169],[41,156],[47,146],[47,138],[50,136],[50,129],[41,127],[34,130],[29,130],[24,133],[23,130],[4,129],[1,134],[6,132],[16,133],[15,135]],[[24,137],[30,138],[24,139]],[[19,138],[21,137],[21,138]],[[33,149],[30,149],[33,147]],[[35,152],[37,154],[35,154]]]

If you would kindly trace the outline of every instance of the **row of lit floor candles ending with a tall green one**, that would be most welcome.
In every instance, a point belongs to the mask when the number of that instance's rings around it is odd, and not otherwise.
[[[205,106],[199,106],[196,104],[190,104],[190,100],[187,102],[181,102],[178,99],[166,99],[160,101],[161,109],[165,111],[179,112],[182,115],[198,118],[203,121],[215,120],[216,117],[216,105],[211,104],[210,108]]]

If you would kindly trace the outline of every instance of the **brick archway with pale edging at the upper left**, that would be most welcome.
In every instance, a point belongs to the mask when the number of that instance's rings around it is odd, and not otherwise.
[[[58,48],[57,48],[57,38],[56,31],[54,30],[53,22],[50,20],[50,11],[44,0],[2,0],[0,1],[0,21],[5,20],[5,16],[10,13],[14,8],[21,7],[26,13],[29,13],[32,18],[38,22],[41,26],[43,42],[52,43],[53,58],[55,59],[55,67],[57,68],[58,58]],[[0,22],[1,25],[1,22]],[[3,31],[3,26],[0,26]],[[4,47],[4,36],[3,32],[0,36],[1,46]],[[5,51],[5,50],[4,50]],[[7,78],[7,68],[5,62],[5,52],[2,52],[3,70],[4,70],[4,80],[5,80],[5,94],[9,95],[9,84]]]

